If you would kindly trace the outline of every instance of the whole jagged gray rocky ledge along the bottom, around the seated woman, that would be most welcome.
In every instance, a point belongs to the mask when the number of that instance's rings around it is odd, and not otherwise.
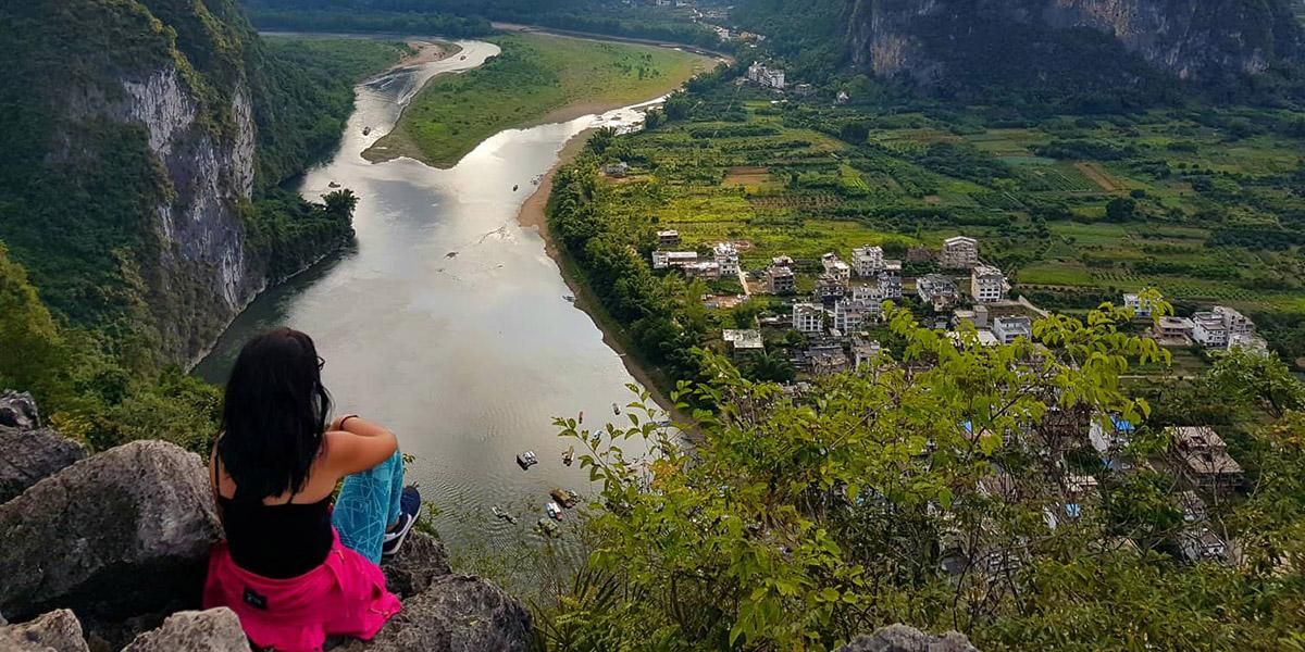
[[[30,396],[0,395],[5,415],[18,419],[0,426],[0,489],[14,494],[0,494],[0,651],[251,652],[234,612],[197,610],[209,548],[222,536],[198,455],[141,441],[85,458],[39,429]],[[403,610],[375,640],[326,649],[531,648],[530,612],[493,583],[454,574],[438,540],[411,533],[382,569]],[[975,648],[959,634],[895,625],[839,652]]]

